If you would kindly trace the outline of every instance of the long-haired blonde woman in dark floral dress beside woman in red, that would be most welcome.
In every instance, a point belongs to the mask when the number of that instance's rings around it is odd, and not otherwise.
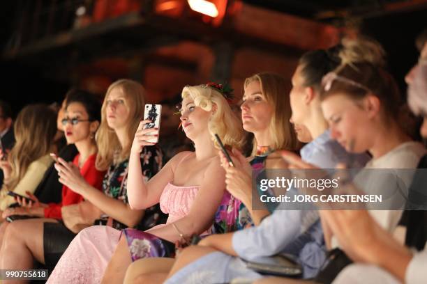
[[[60,164],[55,165],[59,170],[60,182],[84,198],[81,203],[62,207],[61,213],[64,214],[72,210],[75,214],[80,214],[80,208],[87,209],[87,212],[90,213],[90,216],[83,215],[82,219],[86,220],[88,217],[91,223],[82,223],[82,226],[78,226],[77,232],[83,226],[90,226],[93,219],[96,218],[98,218],[98,223],[105,225],[108,223],[114,228],[137,226],[143,215],[145,216],[144,221],[149,220],[148,223],[141,223],[142,226],[146,226],[145,228],[151,228],[152,223],[158,222],[158,207],[153,206],[144,212],[143,210],[131,209],[127,202],[128,157],[132,137],[143,115],[143,110],[144,89],[141,84],[128,79],[121,79],[114,82],[107,90],[101,108],[100,126],[96,133],[98,155],[96,155],[95,166],[100,171],[107,170],[102,183],[103,192],[84,180],[77,166],[72,163],[66,163],[59,158]],[[142,166],[144,178],[151,178],[151,175],[157,173],[158,168],[161,167],[161,152],[156,147],[146,147],[141,152],[140,159],[144,161]],[[103,215],[101,216],[101,214]],[[95,217],[92,219],[93,216]],[[50,227],[51,224],[45,223],[42,232],[46,232],[46,228]],[[51,239],[49,243],[52,245],[53,251],[50,254],[51,257],[46,258],[47,255],[44,255],[45,251],[43,251],[43,237],[40,237],[38,243],[28,242],[28,236],[22,235],[23,228],[18,225],[19,222],[16,224],[13,222],[8,226],[3,241],[3,248],[5,249],[2,251],[0,265],[4,269],[31,268],[32,255],[39,261],[51,262],[48,266],[54,267],[75,236],[75,228],[73,228],[73,232],[68,230],[61,237],[53,235],[54,242]],[[71,228],[68,229],[71,230]],[[39,250],[36,250],[35,246]],[[16,253],[17,250],[20,251],[19,254]],[[22,255],[24,255],[25,262],[22,261]]]

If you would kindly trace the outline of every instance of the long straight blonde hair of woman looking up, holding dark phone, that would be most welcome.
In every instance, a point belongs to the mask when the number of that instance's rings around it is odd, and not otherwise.
[[[299,142],[294,127],[290,123],[292,110],[290,108],[290,82],[274,73],[258,73],[246,78],[244,88],[253,81],[260,82],[262,95],[274,109],[269,125],[269,133],[274,141],[275,150],[298,150]],[[252,155],[257,150],[257,141],[253,139]]]

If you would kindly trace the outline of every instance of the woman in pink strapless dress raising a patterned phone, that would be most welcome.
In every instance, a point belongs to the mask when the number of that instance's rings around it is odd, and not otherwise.
[[[167,223],[149,232],[121,231],[106,226],[87,228],[75,237],[59,260],[47,283],[121,283],[133,258],[173,256],[174,243],[183,236],[209,231],[225,191],[225,172],[220,165],[218,145],[240,148],[243,129],[218,86],[186,86],[182,92],[181,123],[195,152],[181,152],[165,164],[149,182],[141,173],[140,152],[158,129],[144,129],[140,123],[130,151],[128,199],[131,207],[142,209],[160,201]],[[128,242],[130,241],[130,246]]]

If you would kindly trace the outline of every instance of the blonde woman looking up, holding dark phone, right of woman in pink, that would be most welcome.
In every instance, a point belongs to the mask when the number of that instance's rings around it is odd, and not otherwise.
[[[254,135],[252,156],[246,159],[239,150],[233,149],[235,166],[230,167],[225,166],[228,163],[220,152],[223,167],[226,170],[227,191],[231,194],[229,194],[228,200],[224,198],[225,200],[221,203],[227,213],[220,212],[220,214],[227,216],[225,221],[228,226],[232,223],[232,229],[220,230],[220,232],[228,232],[228,234],[215,234],[205,239],[225,237],[223,245],[228,246],[232,232],[242,231],[251,225],[259,226],[262,219],[270,214],[267,208],[260,210],[261,208],[253,207],[251,174],[252,171],[260,171],[262,168],[283,166],[282,161],[276,159],[277,150],[298,150],[297,136],[290,123],[292,112],[289,95],[287,95],[289,90],[290,82],[278,74],[263,72],[246,78],[240,109],[244,130]],[[247,160],[250,160],[250,163]],[[232,200],[232,205],[230,205],[230,200]],[[192,248],[195,249],[188,251]],[[186,254],[180,255],[178,262],[182,258],[195,260],[207,253],[204,250],[197,250],[197,248],[199,246],[186,248],[183,251]],[[172,269],[172,265],[174,265],[174,260],[171,258],[139,260],[126,271],[124,283],[134,281],[162,283]],[[209,274],[204,276],[209,276]],[[218,283],[220,282],[218,281]]]

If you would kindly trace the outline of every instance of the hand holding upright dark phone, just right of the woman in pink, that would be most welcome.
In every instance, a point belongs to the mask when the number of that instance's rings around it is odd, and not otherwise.
[[[244,204],[252,201],[252,168],[239,150],[232,150],[234,166],[231,166],[223,152],[219,152],[221,164],[225,169],[227,190]],[[248,205],[248,204],[246,204]]]

